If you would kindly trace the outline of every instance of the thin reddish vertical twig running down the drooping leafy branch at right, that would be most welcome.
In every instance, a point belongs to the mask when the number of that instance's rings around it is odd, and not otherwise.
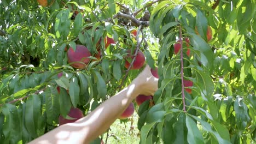
[[[182,46],[182,26],[179,24],[179,39],[181,41],[181,79],[182,79],[182,101],[183,101],[183,111],[187,112],[185,104],[185,94],[184,94],[184,75],[183,75],[183,46]]]

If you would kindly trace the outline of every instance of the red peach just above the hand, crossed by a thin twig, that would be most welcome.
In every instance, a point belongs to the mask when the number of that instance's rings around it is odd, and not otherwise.
[[[127,50],[128,57],[133,59],[134,56],[131,55],[131,50]],[[138,50],[137,56],[135,57],[135,61],[132,64],[131,69],[140,69],[145,63],[145,56],[141,50]],[[128,69],[130,67],[130,62],[125,61],[125,68]]]

